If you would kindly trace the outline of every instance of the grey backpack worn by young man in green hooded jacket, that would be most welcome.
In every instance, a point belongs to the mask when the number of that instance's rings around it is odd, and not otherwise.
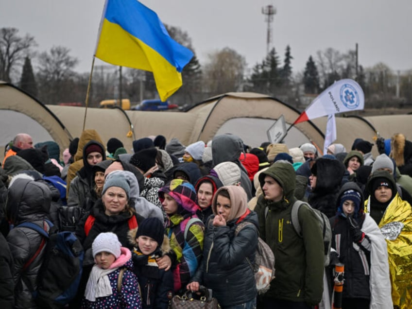
[[[319,226],[322,230],[322,237],[323,237],[323,244],[324,244],[324,250],[325,250],[325,266],[329,265],[329,254],[330,254],[330,245],[332,244],[332,229],[330,228],[330,223],[329,219],[327,216],[320,210],[312,208],[308,203],[305,203],[303,201],[297,200],[295,203],[292,205],[292,212],[291,212],[291,217],[292,217],[292,225],[294,230],[296,231],[297,235],[299,237],[302,237],[302,228],[299,223],[299,217],[298,217],[298,212],[299,208],[302,205],[307,205],[309,209],[313,211],[313,213],[316,215],[316,218],[318,219]],[[268,216],[269,209],[266,206],[265,208],[265,217]]]

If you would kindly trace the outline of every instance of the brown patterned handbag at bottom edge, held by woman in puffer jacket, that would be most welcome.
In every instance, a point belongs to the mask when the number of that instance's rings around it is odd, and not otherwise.
[[[204,286],[199,287],[200,296],[196,292],[187,290],[182,296],[174,295],[170,309],[220,309],[219,302],[212,297],[212,290]]]

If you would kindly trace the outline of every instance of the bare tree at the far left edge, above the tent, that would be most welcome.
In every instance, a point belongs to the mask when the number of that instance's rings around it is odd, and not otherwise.
[[[34,37],[19,36],[16,28],[0,29],[0,80],[11,82],[13,69],[20,66],[30,49],[36,46]]]

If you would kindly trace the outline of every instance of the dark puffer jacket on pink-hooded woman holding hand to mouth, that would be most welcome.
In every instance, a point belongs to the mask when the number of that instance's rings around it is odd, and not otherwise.
[[[225,226],[214,227],[212,222],[215,216],[209,217],[204,239],[204,258],[190,280],[212,289],[213,296],[223,308],[248,302],[257,295],[255,275],[246,257],[252,263],[255,260],[258,222],[257,214],[247,211],[249,213],[241,221],[252,224],[243,226],[236,236],[235,229],[240,218],[230,220]]]

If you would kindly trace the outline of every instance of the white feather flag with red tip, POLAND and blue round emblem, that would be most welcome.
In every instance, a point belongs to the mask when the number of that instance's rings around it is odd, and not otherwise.
[[[359,84],[352,79],[342,79],[318,95],[293,124],[326,115],[360,110],[364,104],[365,97]]]

